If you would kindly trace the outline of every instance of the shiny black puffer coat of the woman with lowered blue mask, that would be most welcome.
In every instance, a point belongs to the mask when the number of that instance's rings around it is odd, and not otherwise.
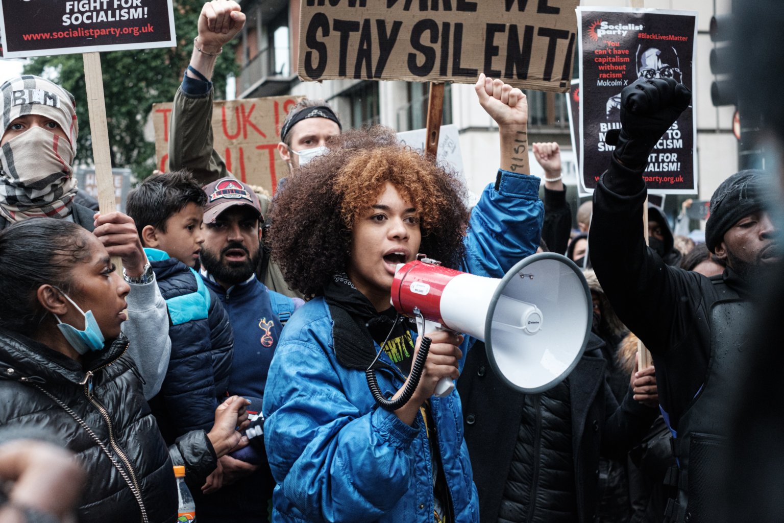
[[[127,347],[128,340],[121,337],[89,354],[82,365],[0,329],[0,425],[48,429],[77,454],[87,472],[78,509],[82,523],[143,521],[132,490],[140,492],[150,523],[176,518],[172,461],[144,401],[136,366],[123,355]],[[133,489],[87,430],[46,393],[87,424]]]

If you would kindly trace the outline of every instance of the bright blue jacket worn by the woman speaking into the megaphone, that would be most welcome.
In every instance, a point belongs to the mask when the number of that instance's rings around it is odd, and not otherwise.
[[[535,252],[543,223],[538,192],[538,178],[499,171],[472,213],[464,271],[499,277]],[[263,411],[278,482],[273,521],[432,523],[422,416],[410,427],[376,406],[365,373],[337,361],[332,325],[323,298],[306,303],[283,330],[270,366]],[[381,358],[397,369],[387,354]],[[390,395],[404,383],[396,370],[379,369],[377,379]],[[432,398],[431,410],[455,521],[479,521],[458,394]]]

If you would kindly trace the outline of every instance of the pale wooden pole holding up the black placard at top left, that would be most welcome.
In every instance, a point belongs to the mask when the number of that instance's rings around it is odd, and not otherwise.
[[[109,154],[109,128],[106,122],[106,104],[103,101],[103,75],[100,68],[100,53],[83,53],[85,63],[85,85],[87,86],[87,110],[90,118],[90,136],[93,141],[93,162],[96,167],[98,207],[101,214],[117,210],[114,197],[114,176],[111,173]],[[119,256],[112,256],[112,263],[122,271]]]

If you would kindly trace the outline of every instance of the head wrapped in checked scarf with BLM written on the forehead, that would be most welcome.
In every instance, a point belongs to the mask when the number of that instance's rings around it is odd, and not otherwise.
[[[71,216],[78,136],[74,96],[27,74],[0,85],[0,111],[0,217],[14,223]],[[92,212],[80,209],[80,215],[92,222]]]

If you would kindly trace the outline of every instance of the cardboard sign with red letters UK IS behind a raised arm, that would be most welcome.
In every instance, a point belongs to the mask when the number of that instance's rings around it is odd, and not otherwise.
[[[273,194],[278,180],[289,173],[278,155],[281,125],[301,96],[270,96],[219,100],[212,104],[215,150],[239,180]],[[172,104],[154,104],[155,157],[158,169],[169,170],[169,124]]]

